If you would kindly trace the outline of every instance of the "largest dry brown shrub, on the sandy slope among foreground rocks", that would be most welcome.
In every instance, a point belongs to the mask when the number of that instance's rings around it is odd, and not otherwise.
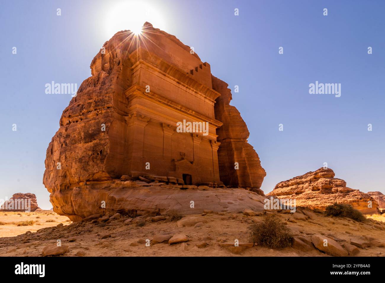
[[[276,214],[264,216],[262,221],[248,227],[252,243],[271,249],[281,249],[291,245],[293,235]]]

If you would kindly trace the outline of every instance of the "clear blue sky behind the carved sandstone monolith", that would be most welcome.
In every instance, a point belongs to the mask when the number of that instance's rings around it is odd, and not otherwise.
[[[119,18],[108,15],[119,2],[2,2],[0,198],[30,192],[52,207],[44,159],[71,95],[45,94],[45,84],[80,86],[90,76],[91,60],[118,31],[110,32]],[[385,1],[154,2],[154,27],[193,46],[232,89],[239,85],[231,104],[267,172],[265,193],[323,162],[350,188],[385,193]],[[340,83],[341,97],[309,94],[316,80]]]

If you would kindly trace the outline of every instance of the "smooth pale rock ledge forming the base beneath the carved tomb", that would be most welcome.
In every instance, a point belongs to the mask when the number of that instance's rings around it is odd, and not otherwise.
[[[169,210],[186,215],[201,214],[207,209],[213,212],[241,212],[245,208],[263,211],[265,198],[238,188],[183,190],[178,185],[156,183],[148,186],[113,180],[83,184],[72,190],[54,191],[50,201],[60,215],[72,221],[86,221],[115,213],[136,217],[165,214]]]

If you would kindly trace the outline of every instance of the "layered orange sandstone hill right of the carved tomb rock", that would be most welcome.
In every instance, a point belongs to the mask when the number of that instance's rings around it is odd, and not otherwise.
[[[346,187],[346,182],[334,178],[330,168],[320,168],[314,172],[294,177],[278,183],[268,196],[280,199],[296,199],[297,206],[325,210],[333,203],[348,203],[362,213],[378,213],[378,203],[368,194],[358,189]],[[368,208],[368,201],[372,201],[372,208]]]

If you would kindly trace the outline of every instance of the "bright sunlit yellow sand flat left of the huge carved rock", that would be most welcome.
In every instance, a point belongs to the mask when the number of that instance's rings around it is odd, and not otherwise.
[[[72,222],[67,216],[61,216],[51,210],[0,212],[0,238],[17,236],[27,231],[36,232],[41,228],[56,226],[59,223],[66,225]]]

